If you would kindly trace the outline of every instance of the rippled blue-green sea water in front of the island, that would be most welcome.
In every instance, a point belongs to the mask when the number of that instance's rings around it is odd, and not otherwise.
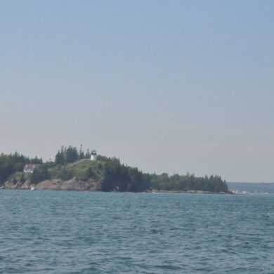
[[[274,195],[0,190],[0,273],[274,273]]]

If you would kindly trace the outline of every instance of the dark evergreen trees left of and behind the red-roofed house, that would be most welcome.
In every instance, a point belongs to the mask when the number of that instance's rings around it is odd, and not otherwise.
[[[0,184],[3,184],[11,174],[22,171],[25,164],[42,164],[41,158],[30,158],[20,155],[18,152],[13,154],[0,155]]]

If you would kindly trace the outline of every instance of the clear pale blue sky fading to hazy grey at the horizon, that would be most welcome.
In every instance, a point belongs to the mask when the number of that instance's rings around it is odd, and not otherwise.
[[[0,1],[0,152],[274,181],[274,1]]]

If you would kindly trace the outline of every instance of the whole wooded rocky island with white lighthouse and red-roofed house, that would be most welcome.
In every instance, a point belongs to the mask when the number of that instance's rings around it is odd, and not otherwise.
[[[117,157],[61,147],[55,161],[43,162],[15,152],[0,155],[0,188],[24,190],[78,190],[104,192],[231,194],[221,176],[169,176],[143,173]]]

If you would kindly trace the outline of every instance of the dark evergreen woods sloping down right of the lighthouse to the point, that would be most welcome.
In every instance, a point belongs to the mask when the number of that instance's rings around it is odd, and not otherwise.
[[[188,191],[203,190],[209,192],[228,192],[226,181],[221,176],[195,177],[193,174],[169,176],[144,174],[137,168],[120,164],[117,158],[98,156],[98,160],[105,162],[104,191],[144,191],[144,190],[169,190]]]

